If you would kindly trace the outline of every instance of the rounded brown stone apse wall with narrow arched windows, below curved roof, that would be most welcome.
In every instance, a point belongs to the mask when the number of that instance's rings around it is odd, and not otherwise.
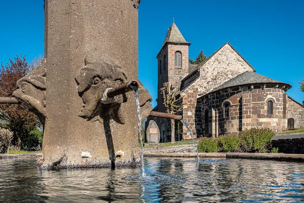
[[[261,89],[261,85],[243,86],[199,98],[202,113],[201,119],[196,119],[201,122],[196,125],[203,127],[202,136],[235,134],[242,129],[254,127],[285,131],[287,94],[279,87],[268,87]],[[268,100],[273,101],[273,114],[267,114]],[[228,117],[225,116],[225,104],[229,105]]]

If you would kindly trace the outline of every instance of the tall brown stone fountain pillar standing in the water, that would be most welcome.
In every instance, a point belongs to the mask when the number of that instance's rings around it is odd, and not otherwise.
[[[39,92],[45,94],[44,112],[40,111],[45,114],[40,167],[140,163],[133,92],[112,100],[104,98],[109,88],[138,79],[139,2],[46,1],[46,61],[41,64],[46,70],[41,76],[45,77],[45,89]],[[24,92],[22,87],[17,90]],[[143,119],[151,111],[150,101],[149,93],[140,85]]]

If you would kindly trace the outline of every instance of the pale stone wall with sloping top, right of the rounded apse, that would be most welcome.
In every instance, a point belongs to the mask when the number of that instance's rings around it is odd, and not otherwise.
[[[287,118],[293,118],[295,128],[304,128],[304,107],[300,103],[288,97]]]

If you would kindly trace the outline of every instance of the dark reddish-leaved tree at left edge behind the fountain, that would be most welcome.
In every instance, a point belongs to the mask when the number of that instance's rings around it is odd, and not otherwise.
[[[0,97],[12,97],[16,90],[17,81],[33,69],[26,62],[26,58],[17,57],[15,60],[9,59],[10,63],[0,68]],[[20,104],[1,104],[0,105],[0,127],[12,131],[12,145],[17,148],[26,148],[22,142],[28,139],[30,132],[35,130],[38,118]]]

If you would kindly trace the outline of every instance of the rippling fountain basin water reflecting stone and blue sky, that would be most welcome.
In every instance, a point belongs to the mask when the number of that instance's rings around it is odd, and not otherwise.
[[[0,159],[0,201],[303,202],[304,163],[145,158],[141,168],[38,171],[34,159]]]

